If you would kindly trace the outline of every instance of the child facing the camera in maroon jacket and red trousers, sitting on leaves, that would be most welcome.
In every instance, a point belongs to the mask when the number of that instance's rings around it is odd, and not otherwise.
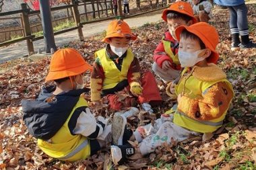
[[[108,25],[106,37],[102,40],[107,43],[106,48],[95,52],[91,76],[94,105],[101,105],[102,95],[108,99],[110,109],[119,111],[136,106],[139,99],[144,110],[152,112],[150,104],[161,101],[154,75],[146,72],[141,78],[139,60],[128,48],[130,40],[136,38],[122,20],[114,20]],[[124,102],[117,92],[127,96]]]

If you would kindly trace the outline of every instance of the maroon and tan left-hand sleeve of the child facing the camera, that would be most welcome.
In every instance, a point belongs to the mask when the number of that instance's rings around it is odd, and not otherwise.
[[[99,101],[101,99],[100,93],[104,78],[104,70],[100,64],[100,60],[96,58],[91,74],[91,101]]]

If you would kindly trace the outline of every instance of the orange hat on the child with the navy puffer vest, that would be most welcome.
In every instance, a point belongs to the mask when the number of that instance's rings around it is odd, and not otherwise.
[[[79,75],[87,70],[92,71],[92,66],[79,52],[72,48],[63,48],[53,54],[46,81]]]

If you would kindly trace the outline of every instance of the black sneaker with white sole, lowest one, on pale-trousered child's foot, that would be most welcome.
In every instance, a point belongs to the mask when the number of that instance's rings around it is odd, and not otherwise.
[[[115,165],[121,165],[125,162],[127,157],[135,153],[135,149],[130,144],[111,146],[110,147],[112,159]]]

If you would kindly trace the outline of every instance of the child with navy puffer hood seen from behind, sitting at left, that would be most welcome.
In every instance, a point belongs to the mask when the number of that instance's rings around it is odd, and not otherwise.
[[[38,138],[39,148],[50,157],[63,161],[86,159],[111,142],[111,125],[100,116],[94,118],[82,97],[88,91],[83,79],[87,70],[92,70],[92,66],[76,50],[58,50],[46,77],[46,81],[55,81],[56,85],[43,87],[35,101],[22,101],[28,131]],[[131,132],[125,124],[118,123],[124,132],[121,138],[125,139]]]

